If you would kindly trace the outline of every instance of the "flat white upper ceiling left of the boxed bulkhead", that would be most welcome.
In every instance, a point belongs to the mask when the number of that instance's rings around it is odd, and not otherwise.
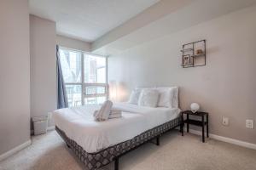
[[[30,14],[56,22],[56,33],[93,42],[160,0],[29,0]]]

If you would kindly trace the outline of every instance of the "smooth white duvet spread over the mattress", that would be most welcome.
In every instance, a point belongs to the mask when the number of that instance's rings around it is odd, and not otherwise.
[[[113,105],[122,111],[121,118],[96,122],[93,113],[99,105],[86,105],[54,111],[55,124],[68,138],[76,141],[88,153],[132,139],[165,122],[175,119],[180,110],[164,107],[150,108],[127,103]]]

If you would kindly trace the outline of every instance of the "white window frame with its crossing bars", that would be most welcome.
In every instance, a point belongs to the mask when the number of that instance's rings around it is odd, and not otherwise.
[[[60,46],[60,50],[68,50],[68,51],[73,51],[76,53],[80,53],[81,54],[81,82],[65,82],[65,90],[66,90],[66,85],[79,85],[81,86],[81,105],[84,105],[84,99],[85,98],[94,98],[94,97],[106,97],[106,99],[108,99],[108,56],[103,56],[103,55],[99,55],[99,54],[90,54],[88,52],[85,52],[83,50],[79,50],[79,49],[73,49],[73,48],[66,48],[66,47],[62,47]],[[97,82],[84,82],[84,55],[90,55],[90,56],[96,56],[96,57],[102,57],[106,59],[106,83],[97,83]],[[105,94],[86,94],[86,87],[104,87],[105,88]],[[76,106],[76,105],[73,105]],[[68,107],[73,107],[73,106],[69,106]]]

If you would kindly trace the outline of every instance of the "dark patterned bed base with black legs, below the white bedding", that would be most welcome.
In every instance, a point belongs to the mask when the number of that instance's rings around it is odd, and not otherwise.
[[[158,127],[149,129],[148,131],[137,135],[133,139],[115,144],[96,153],[86,152],[73,139],[69,139],[66,133],[64,133],[59,127],[56,126],[55,129],[61,135],[61,138],[67,143],[67,147],[73,150],[75,155],[79,157],[79,160],[83,162],[87,169],[96,170],[114,161],[114,170],[119,170],[119,158],[121,156],[124,156],[131,150],[135,150],[142,144],[150,142],[154,139],[156,140],[155,144],[160,145],[160,135],[176,127],[180,127],[180,132],[183,135],[182,116],[178,116],[176,119],[170,122],[166,122]]]

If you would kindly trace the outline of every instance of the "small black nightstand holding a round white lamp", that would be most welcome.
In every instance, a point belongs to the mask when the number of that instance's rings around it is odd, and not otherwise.
[[[187,117],[186,120],[183,120],[183,115]],[[200,116],[201,121],[191,119],[191,117],[189,116]],[[205,121],[205,117],[206,117],[206,121]],[[195,113],[193,113],[192,111],[182,111],[182,120],[183,120],[183,123],[187,123],[187,133],[189,133],[189,124],[201,127],[202,142],[205,142],[205,126],[207,126],[207,138],[209,138],[209,126],[208,126],[209,114],[207,112],[196,111]]]

